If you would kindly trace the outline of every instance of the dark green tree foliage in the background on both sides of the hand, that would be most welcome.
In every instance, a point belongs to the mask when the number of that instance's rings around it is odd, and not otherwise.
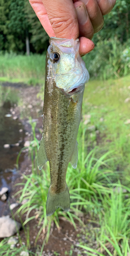
[[[42,53],[48,46],[48,35],[39,22],[28,0],[0,0],[0,51],[25,53],[28,36],[32,52]],[[116,36],[123,44],[130,33],[130,0],[117,0],[114,9],[105,16],[103,29],[93,41]]]

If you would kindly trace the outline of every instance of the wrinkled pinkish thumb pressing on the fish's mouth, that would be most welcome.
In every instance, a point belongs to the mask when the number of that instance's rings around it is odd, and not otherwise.
[[[79,25],[72,0],[42,0],[56,37],[79,37]]]

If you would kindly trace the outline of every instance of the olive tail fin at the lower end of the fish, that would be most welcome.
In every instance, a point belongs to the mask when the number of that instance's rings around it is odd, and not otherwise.
[[[46,202],[46,215],[54,214],[55,210],[60,207],[65,211],[70,209],[69,189],[66,184],[66,189],[59,194],[51,194],[50,188],[48,190]]]

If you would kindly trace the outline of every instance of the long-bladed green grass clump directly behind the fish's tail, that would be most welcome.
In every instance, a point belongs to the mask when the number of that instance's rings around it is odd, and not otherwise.
[[[17,213],[20,213],[21,215],[25,213],[27,214],[23,225],[28,223],[30,220],[35,219],[37,216],[37,218],[39,218],[38,225],[41,225],[41,228],[38,232],[36,242],[42,230],[44,230],[44,237],[47,242],[53,223],[55,223],[59,228],[60,216],[65,220],[70,221],[76,228],[74,219],[77,219],[81,224],[83,224],[80,217],[83,216],[83,212],[86,211],[86,208],[89,210],[92,209],[96,212],[96,204],[93,203],[93,198],[97,201],[97,208],[99,208],[100,205],[98,205],[97,189],[100,188],[102,194],[109,193],[107,183],[110,183],[109,176],[114,174],[112,170],[108,168],[108,154],[105,154],[100,159],[94,158],[94,150],[90,152],[87,157],[84,155],[84,130],[81,124],[80,130],[82,130],[82,132],[80,131],[80,134],[82,133],[82,146],[79,151],[79,167],[76,169],[69,167],[67,170],[66,180],[68,187],[70,188],[71,200],[70,211],[64,212],[58,208],[52,216],[46,217],[46,200],[50,185],[49,164],[47,163],[41,172],[36,168],[37,149],[39,144],[35,137],[35,125],[36,123],[32,123],[34,138],[31,142],[31,146],[29,147],[29,150],[31,150],[32,174],[29,176],[23,175],[25,183],[22,182],[17,184],[24,186],[16,194],[16,196],[20,194],[19,202],[26,199],[27,203],[22,205]],[[17,163],[19,156],[20,153],[17,158]],[[35,215],[30,217],[30,212],[35,209],[37,209]]]

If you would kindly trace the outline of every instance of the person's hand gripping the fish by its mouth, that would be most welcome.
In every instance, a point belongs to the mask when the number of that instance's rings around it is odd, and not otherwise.
[[[47,34],[60,38],[80,36],[80,54],[94,48],[90,40],[103,27],[103,16],[116,0],[29,0]],[[88,39],[90,38],[90,39]]]

